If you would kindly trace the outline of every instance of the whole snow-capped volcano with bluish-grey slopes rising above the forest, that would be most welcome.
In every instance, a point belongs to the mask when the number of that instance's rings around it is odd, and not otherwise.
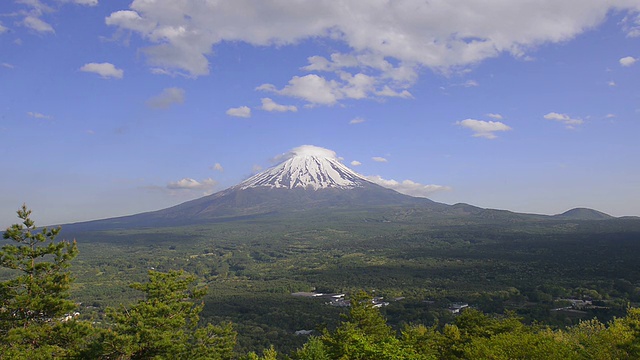
[[[158,211],[65,225],[74,231],[133,229],[238,221],[265,216],[366,213],[404,221],[527,221],[544,215],[446,205],[385,188],[343,165],[335,152],[311,145],[226,190]],[[315,215],[314,215],[315,214]],[[381,215],[384,214],[384,215]],[[386,220],[385,220],[386,221]]]

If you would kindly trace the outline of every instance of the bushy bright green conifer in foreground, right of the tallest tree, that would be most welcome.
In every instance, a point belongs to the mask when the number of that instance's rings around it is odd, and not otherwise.
[[[108,309],[112,328],[104,334],[106,358],[230,359],[235,333],[230,324],[199,327],[206,288],[183,271],[149,271],[149,282],[134,283],[145,293],[131,308]]]

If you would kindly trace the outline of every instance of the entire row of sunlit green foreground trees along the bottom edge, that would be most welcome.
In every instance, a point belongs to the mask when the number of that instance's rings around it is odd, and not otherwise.
[[[262,354],[235,351],[229,323],[203,324],[206,287],[183,271],[150,271],[131,287],[144,297],[108,308],[101,322],[81,320],[69,300],[75,242],[56,241],[59,229],[37,230],[23,206],[8,228],[0,265],[1,359],[638,359],[640,310],[606,324],[581,322],[564,330],[524,325],[513,313],[462,312],[451,324],[389,326],[369,296],[351,296],[349,312],[299,349]]]

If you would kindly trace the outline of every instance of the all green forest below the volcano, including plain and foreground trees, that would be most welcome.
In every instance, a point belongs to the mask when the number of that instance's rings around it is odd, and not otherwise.
[[[3,359],[640,358],[634,219],[270,219],[67,241],[18,215],[0,250]]]

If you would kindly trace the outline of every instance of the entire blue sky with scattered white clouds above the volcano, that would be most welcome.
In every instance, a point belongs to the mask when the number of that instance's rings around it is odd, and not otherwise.
[[[638,0],[5,0],[0,225],[156,210],[309,144],[444,203],[640,216]]]

